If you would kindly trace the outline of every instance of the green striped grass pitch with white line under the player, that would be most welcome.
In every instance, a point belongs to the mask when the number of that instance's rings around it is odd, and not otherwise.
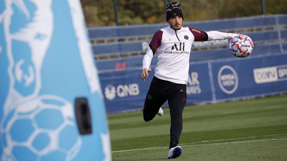
[[[167,160],[170,113],[108,115],[113,160]],[[287,160],[287,95],[186,106],[175,160]]]

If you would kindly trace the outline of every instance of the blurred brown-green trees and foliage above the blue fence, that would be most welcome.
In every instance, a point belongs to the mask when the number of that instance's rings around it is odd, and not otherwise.
[[[261,15],[261,0],[181,0],[184,21]],[[168,0],[168,3],[172,0]],[[266,14],[286,14],[287,0],[264,0]],[[81,0],[88,27],[115,26],[113,0]],[[117,0],[119,25],[166,23],[164,0]]]

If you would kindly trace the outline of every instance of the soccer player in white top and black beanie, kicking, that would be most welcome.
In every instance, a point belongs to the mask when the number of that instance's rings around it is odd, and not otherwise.
[[[177,145],[183,127],[182,113],[187,99],[186,84],[193,41],[229,39],[237,34],[182,27],[183,11],[179,2],[166,5],[166,21],[169,26],[156,31],[144,55],[141,77],[146,81],[152,57],[158,51],[158,63],[146,95],[143,114],[146,122],[156,114],[162,116],[161,106],[168,100],[171,118],[168,159],[172,159],[182,153],[182,148]]]

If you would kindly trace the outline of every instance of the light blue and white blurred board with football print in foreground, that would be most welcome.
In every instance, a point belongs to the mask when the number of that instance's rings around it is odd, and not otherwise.
[[[0,160],[111,160],[80,1],[0,6]]]

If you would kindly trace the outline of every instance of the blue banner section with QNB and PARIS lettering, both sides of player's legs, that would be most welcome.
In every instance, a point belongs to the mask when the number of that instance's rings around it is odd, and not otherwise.
[[[187,103],[200,103],[212,99],[207,63],[192,64],[187,81]],[[141,69],[100,73],[107,112],[140,109],[148,92],[154,69],[144,82]],[[167,102],[165,103],[167,105]]]

